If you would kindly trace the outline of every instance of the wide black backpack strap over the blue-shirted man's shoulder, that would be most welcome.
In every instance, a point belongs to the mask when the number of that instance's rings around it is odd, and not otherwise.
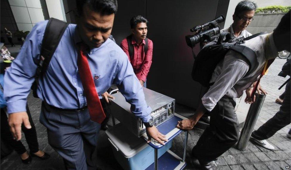
[[[38,79],[47,71],[52,55],[55,53],[55,50],[58,47],[67,26],[68,24],[64,21],[49,18],[44,32],[44,38],[42,40],[40,59],[37,63],[38,67],[35,73],[35,83],[32,85],[32,89],[33,86],[35,86],[35,90],[33,91],[34,97],[37,97],[36,89],[39,85]]]

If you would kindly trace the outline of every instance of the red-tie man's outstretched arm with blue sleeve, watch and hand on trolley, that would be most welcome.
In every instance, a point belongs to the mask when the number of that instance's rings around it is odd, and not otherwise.
[[[118,89],[125,97],[126,101],[131,104],[130,110],[143,122],[148,122],[152,117],[150,115],[151,108],[146,104],[143,88],[140,85],[136,75],[133,72],[132,66],[127,59],[125,53],[120,57],[118,63],[116,84]],[[165,145],[164,141],[168,141],[165,135],[161,134],[155,126],[147,127],[146,133],[148,135],[148,142],[151,138],[157,142]]]

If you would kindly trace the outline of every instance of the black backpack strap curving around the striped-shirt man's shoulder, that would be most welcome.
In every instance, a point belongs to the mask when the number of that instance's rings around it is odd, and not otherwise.
[[[250,69],[248,72],[254,71],[255,66],[257,64],[257,55],[252,49],[243,45],[235,45],[231,47],[230,50],[238,52],[239,54],[247,58],[250,65]]]

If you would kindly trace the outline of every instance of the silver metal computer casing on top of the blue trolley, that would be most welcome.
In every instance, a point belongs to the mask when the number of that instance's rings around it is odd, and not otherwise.
[[[155,126],[159,126],[174,116],[175,99],[147,88],[143,88],[143,92],[146,103],[152,109],[151,116]],[[124,96],[120,92],[113,94],[113,96],[114,100],[111,101],[109,106],[112,116],[123,123],[134,135],[140,137],[145,134],[145,125],[140,118],[137,118],[130,111],[130,104],[126,102]]]

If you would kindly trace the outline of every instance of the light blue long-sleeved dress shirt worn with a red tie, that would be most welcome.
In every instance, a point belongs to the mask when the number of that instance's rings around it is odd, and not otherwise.
[[[8,113],[26,111],[27,96],[35,80],[35,63],[40,59],[47,22],[39,22],[32,28],[17,58],[5,73],[4,97]],[[80,76],[92,76],[99,98],[102,98],[100,95],[112,84],[116,84],[126,101],[131,104],[131,111],[143,122],[148,122],[151,119],[151,108],[146,104],[143,88],[123,50],[108,38],[99,48],[91,49],[87,55],[92,75],[79,75],[76,44],[81,41],[78,26],[69,24],[47,72],[39,79],[39,98],[45,98],[49,105],[62,109],[82,108],[86,106],[86,96],[83,94]]]

